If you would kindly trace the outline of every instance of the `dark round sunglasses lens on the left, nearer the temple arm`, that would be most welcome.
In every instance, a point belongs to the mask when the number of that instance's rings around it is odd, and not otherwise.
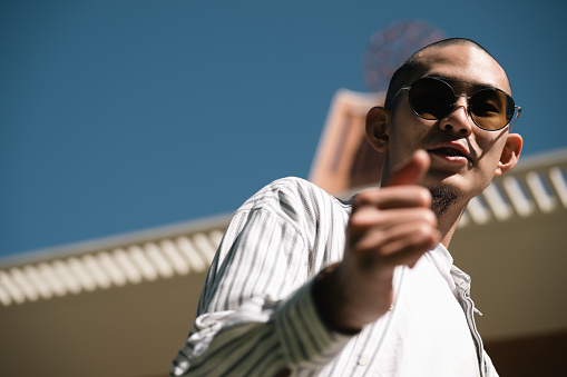
[[[424,119],[443,119],[451,112],[453,100],[451,87],[440,80],[420,79],[410,89],[411,108]]]

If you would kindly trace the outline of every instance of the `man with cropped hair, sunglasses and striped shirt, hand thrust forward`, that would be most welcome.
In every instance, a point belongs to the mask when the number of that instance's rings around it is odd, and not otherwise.
[[[515,110],[476,42],[414,53],[366,117],[382,188],[342,202],[287,178],[248,199],[172,375],[497,376],[447,247],[468,201],[518,161]]]

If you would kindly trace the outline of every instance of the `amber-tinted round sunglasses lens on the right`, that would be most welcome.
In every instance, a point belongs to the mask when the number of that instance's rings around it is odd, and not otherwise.
[[[483,129],[498,130],[506,127],[514,116],[514,100],[504,91],[482,89],[470,98],[472,120]]]

